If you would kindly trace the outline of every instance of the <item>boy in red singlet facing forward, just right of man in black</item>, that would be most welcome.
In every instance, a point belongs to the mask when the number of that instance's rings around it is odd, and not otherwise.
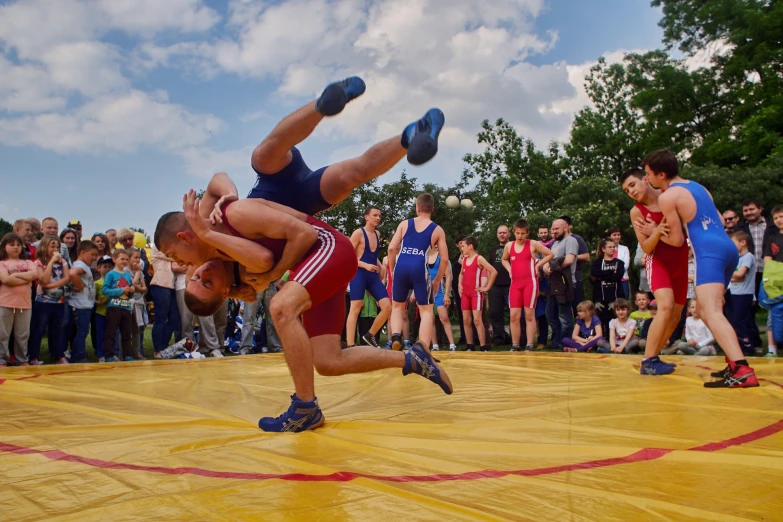
[[[506,243],[503,250],[503,266],[511,275],[511,287],[508,291],[509,309],[511,310],[511,351],[520,351],[519,342],[522,336],[520,317],[525,309],[525,334],[527,336],[526,352],[533,351],[533,339],[536,335],[536,300],[538,298],[538,269],[548,263],[555,255],[543,244],[528,239],[530,225],[524,219],[514,223],[514,238],[516,241]],[[544,257],[536,261],[536,253]]]

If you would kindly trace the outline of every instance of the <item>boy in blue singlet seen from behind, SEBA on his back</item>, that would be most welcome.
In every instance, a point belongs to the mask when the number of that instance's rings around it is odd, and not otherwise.
[[[389,271],[392,272],[392,349],[402,348],[403,314],[408,292],[412,289],[419,307],[421,326],[416,344],[429,350],[432,342],[433,320],[432,288],[438,288],[446,273],[446,263],[441,263],[435,278],[430,281],[427,256],[431,247],[438,246],[442,259],[448,259],[446,233],[431,219],[435,199],[431,194],[416,198],[416,217],[403,221],[397,227],[389,243]]]

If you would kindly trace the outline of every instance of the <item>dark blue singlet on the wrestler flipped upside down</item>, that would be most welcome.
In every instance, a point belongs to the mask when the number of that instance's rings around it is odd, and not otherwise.
[[[332,205],[321,195],[321,176],[328,167],[310,170],[299,149],[292,147],[291,154],[291,163],[276,174],[253,168],[258,178],[247,197],[274,201],[311,216],[330,208]]]

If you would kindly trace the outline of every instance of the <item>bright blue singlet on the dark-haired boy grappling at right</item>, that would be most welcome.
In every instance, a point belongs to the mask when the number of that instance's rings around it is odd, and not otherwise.
[[[723,229],[718,209],[707,189],[695,181],[672,183],[669,188],[682,187],[696,202],[696,215],[685,225],[696,262],[696,286],[722,283],[728,287],[737,268],[739,252]]]

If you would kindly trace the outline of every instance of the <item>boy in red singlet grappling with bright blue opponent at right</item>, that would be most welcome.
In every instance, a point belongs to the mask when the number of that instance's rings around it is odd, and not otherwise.
[[[646,254],[645,270],[650,289],[658,303],[658,313],[650,324],[642,359],[642,375],[665,375],[675,365],[663,362],[658,354],[680,320],[688,297],[688,245],[673,247],[661,237],[669,227],[658,206],[659,192],[652,188],[641,169],[627,170],[620,176],[623,191],[637,203],[631,209],[636,239]]]

